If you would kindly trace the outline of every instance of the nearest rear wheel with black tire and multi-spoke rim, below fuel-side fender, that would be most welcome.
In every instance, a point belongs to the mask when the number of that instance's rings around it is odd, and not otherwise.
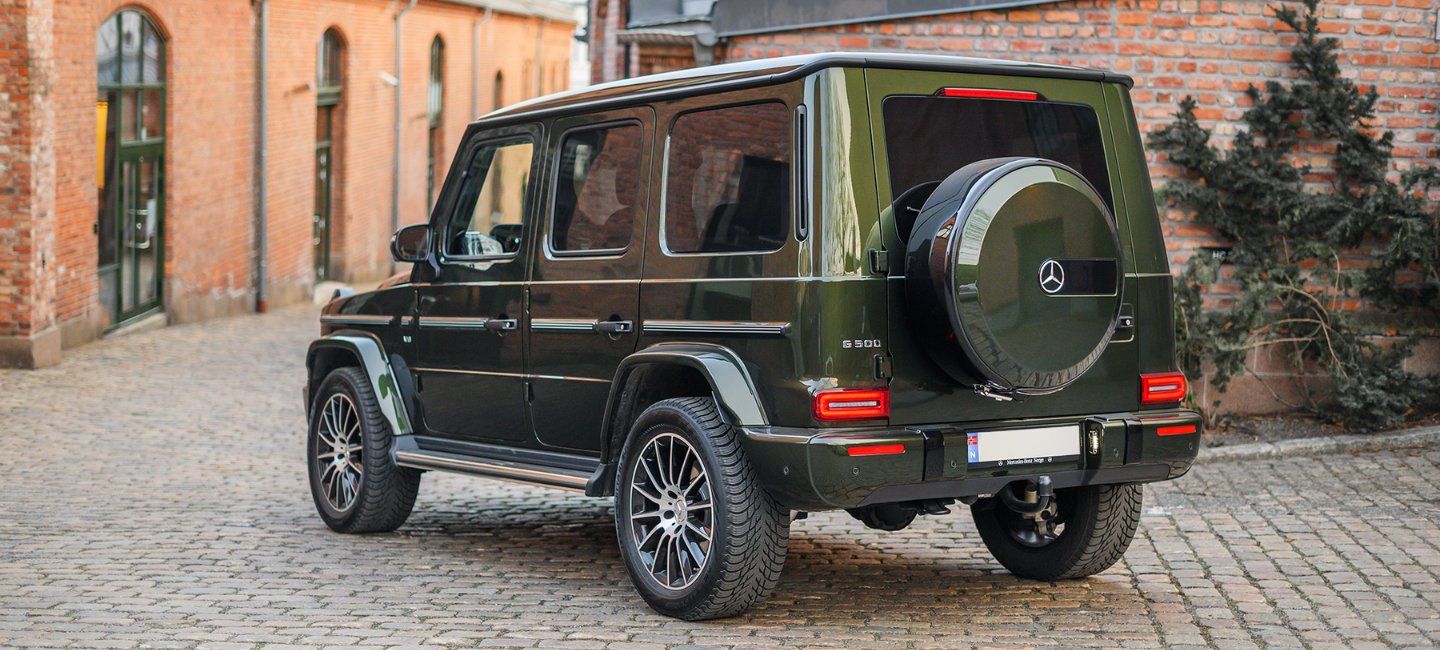
[[[661,464],[685,447],[693,455]],[[687,466],[691,458],[703,474]],[[615,474],[615,532],[631,582],[651,608],[698,621],[759,605],[780,579],[789,527],[789,513],[760,487],[713,399],[665,399],[635,421]],[[661,562],[664,571],[655,568]]]

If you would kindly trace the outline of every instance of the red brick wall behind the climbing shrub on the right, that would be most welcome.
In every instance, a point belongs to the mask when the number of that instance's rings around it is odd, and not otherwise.
[[[1135,78],[1132,98],[1142,133],[1169,123],[1175,104],[1194,95],[1200,102],[1197,115],[1224,141],[1241,124],[1248,84],[1293,76],[1287,62],[1296,36],[1274,19],[1269,4],[1273,3],[1080,0],[740,36],[721,43],[721,56],[742,61],[806,52],[890,50],[1112,69]],[[1362,88],[1375,86],[1384,98],[1380,115],[1395,131],[1395,169],[1436,160],[1440,104],[1436,0],[1328,0],[1320,10],[1322,29],[1341,39],[1345,74]],[[1178,167],[1149,156],[1156,182],[1179,176]],[[1312,163],[1325,166],[1328,159],[1316,153]],[[1175,268],[1195,246],[1212,242],[1208,228],[1187,222],[1178,210],[1165,215],[1164,228]]]

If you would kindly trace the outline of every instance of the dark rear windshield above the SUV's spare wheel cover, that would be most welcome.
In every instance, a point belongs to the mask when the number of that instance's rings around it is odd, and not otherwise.
[[[890,200],[945,180],[971,163],[1030,156],[1063,163],[1084,176],[1112,209],[1110,174],[1094,110],[1077,104],[890,97],[884,102]]]

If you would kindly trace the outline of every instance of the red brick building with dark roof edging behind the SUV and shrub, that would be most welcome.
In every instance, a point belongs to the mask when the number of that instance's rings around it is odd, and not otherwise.
[[[1282,1],[1282,0],[1276,0]],[[1135,78],[1132,98],[1143,133],[1172,120],[1176,102],[1194,95],[1197,115],[1220,140],[1243,125],[1250,84],[1293,76],[1296,36],[1274,19],[1276,1],[1225,0],[874,0],[870,3],[773,0],[592,0],[592,79],[809,52],[873,50],[994,56],[1110,69]],[[1297,1],[1283,0],[1299,9]],[[848,13],[847,13],[848,12]],[[1395,131],[1395,169],[1436,164],[1440,105],[1440,12],[1437,0],[1323,0],[1322,30],[1341,42],[1341,65],[1362,88],[1381,95],[1381,127]],[[1326,166],[1323,151],[1312,164]],[[1152,160],[1156,183],[1179,176]],[[1440,202],[1440,190],[1431,195]],[[1165,215],[1171,261],[1179,270],[1208,228],[1181,210]],[[1364,264],[1356,255],[1354,264]],[[1228,293],[1227,293],[1228,291]],[[1224,307],[1236,287],[1211,287],[1208,304]],[[1346,304],[1345,308],[1364,308]],[[1440,342],[1421,344],[1411,370],[1440,368]],[[1293,370],[1261,350],[1251,357],[1261,378]],[[1284,406],[1257,385],[1236,380],[1224,395],[1201,386],[1202,404],[1224,409]],[[1286,382],[1282,395],[1295,396]]]

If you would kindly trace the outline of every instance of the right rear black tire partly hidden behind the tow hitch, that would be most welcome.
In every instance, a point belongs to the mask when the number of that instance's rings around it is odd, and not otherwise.
[[[1084,578],[1119,562],[1140,522],[1139,484],[1086,486],[1056,490],[1056,519],[1064,529],[1050,543],[1032,548],[1012,530],[1030,525],[999,499],[971,506],[985,548],[1002,566],[1021,578],[1057,581]]]

